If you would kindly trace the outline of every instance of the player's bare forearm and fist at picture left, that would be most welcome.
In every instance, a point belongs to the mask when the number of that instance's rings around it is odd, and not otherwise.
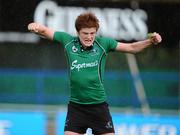
[[[30,23],[28,25],[28,30],[30,32],[33,32],[33,33],[36,33],[44,38],[47,38],[47,39],[50,39],[52,40],[53,39],[53,35],[54,35],[54,30],[42,25],[42,24],[39,24],[39,23]]]

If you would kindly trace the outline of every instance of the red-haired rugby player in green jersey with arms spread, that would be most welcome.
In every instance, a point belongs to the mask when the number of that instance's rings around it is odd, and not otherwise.
[[[109,52],[137,53],[161,42],[154,32],[150,38],[122,43],[98,37],[99,20],[91,12],[80,14],[75,21],[77,36],[54,31],[42,24],[30,23],[28,30],[64,48],[70,71],[71,96],[64,128],[65,135],[81,135],[91,128],[96,135],[114,135],[114,126],[103,86],[106,57]]]

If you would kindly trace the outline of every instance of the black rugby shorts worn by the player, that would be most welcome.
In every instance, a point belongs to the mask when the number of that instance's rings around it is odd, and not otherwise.
[[[87,128],[91,128],[93,134],[114,133],[112,117],[106,102],[93,105],[73,102],[68,104],[64,130],[84,134]]]

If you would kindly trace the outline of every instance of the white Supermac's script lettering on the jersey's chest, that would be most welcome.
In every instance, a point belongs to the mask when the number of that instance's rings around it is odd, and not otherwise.
[[[94,61],[94,62],[89,62],[89,63],[78,63],[77,60],[74,60],[71,64],[71,70],[77,69],[78,71],[80,71],[80,69],[82,68],[91,68],[91,67],[96,67],[98,66],[98,61]]]

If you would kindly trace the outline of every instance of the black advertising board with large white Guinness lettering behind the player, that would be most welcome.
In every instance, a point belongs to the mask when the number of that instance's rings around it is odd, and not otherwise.
[[[178,47],[180,4],[170,2],[1,1],[0,42],[22,42],[21,38],[12,38],[27,34],[27,25],[32,21],[73,34],[74,18],[86,10],[100,18],[100,35],[132,41],[157,31],[163,37],[164,47]],[[11,37],[7,32],[17,35]],[[39,41],[28,39],[24,42]]]

